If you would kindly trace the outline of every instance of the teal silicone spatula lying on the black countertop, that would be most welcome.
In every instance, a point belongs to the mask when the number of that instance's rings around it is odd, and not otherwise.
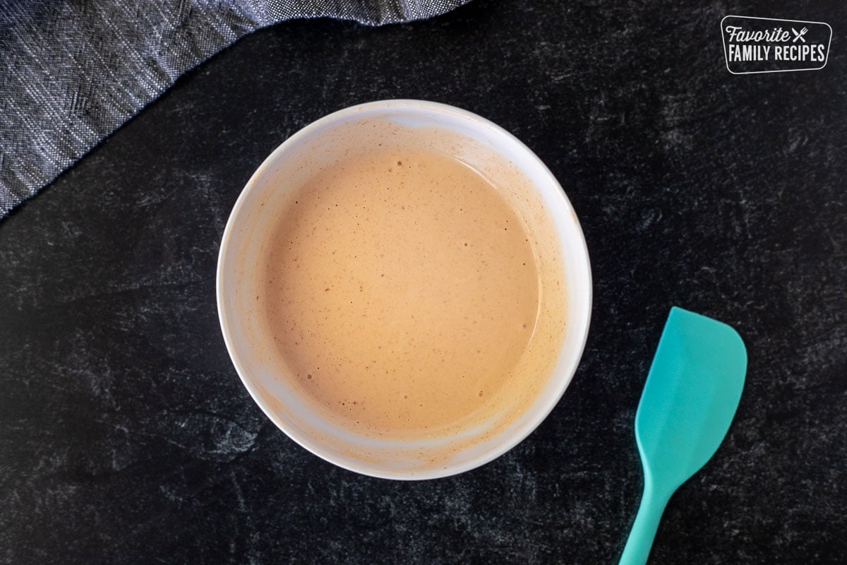
[[[644,495],[620,565],[647,562],[667,501],[727,435],[746,372],[747,351],[735,330],[671,308],[635,413]]]

